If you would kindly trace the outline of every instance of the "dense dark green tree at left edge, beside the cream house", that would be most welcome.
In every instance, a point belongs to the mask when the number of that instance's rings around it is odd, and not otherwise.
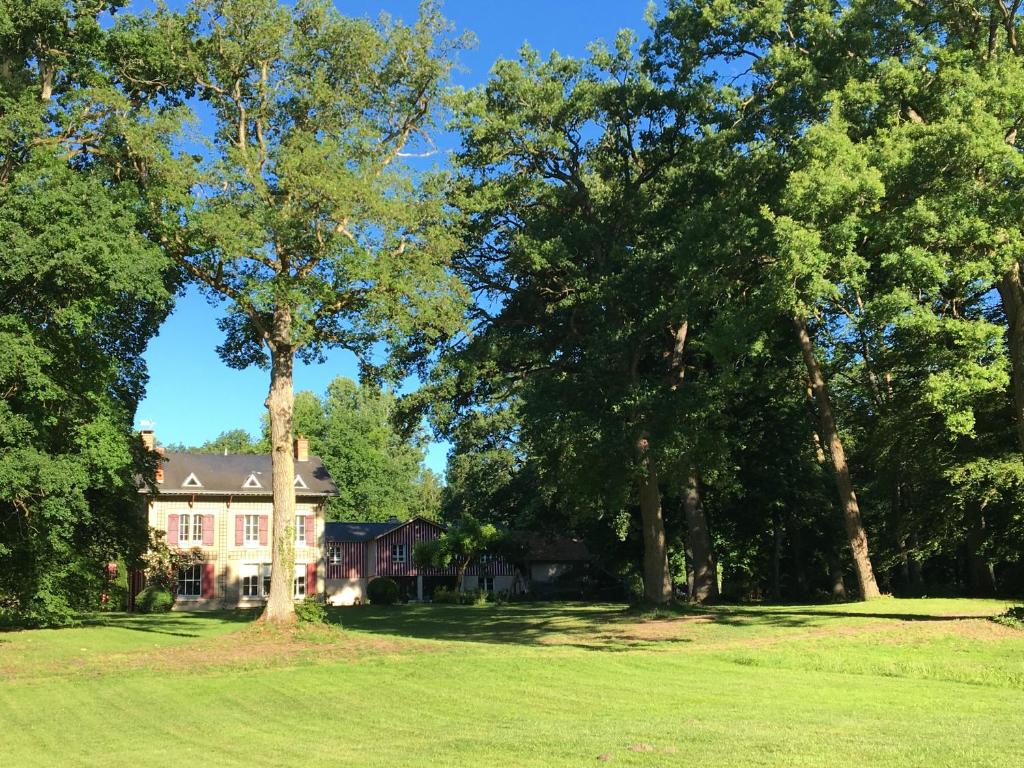
[[[0,7],[0,609],[38,624],[146,541],[132,421],[173,274],[126,173],[163,119],[112,75],[118,6]]]

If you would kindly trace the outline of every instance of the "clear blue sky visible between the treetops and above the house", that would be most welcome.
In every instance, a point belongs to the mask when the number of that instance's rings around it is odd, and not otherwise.
[[[178,6],[181,3],[171,3]],[[350,15],[380,11],[413,19],[418,0],[353,0],[336,3]],[[498,58],[515,57],[528,42],[544,53],[557,50],[582,55],[588,43],[598,38],[610,41],[626,27],[643,33],[648,0],[447,0],[444,12],[460,30],[477,37],[477,46],[461,57],[465,72],[456,82],[463,86],[482,83]],[[134,3],[136,9],[147,3]],[[455,148],[442,136],[440,148]],[[445,145],[447,142],[449,145]],[[160,335],[145,354],[150,368],[146,396],[137,419],[154,422],[163,442],[198,444],[227,429],[244,428],[256,434],[260,428],[268,374],[256,368],[233,371],[217,356],[221,334],[216,319],[222,311],[211,306],[194,289],[178,299]],[[350,353],[336,351],[317,366],[296,364],[296,391],[323,393],[336,376],[356,378]],[[427,456],[427,466],[443,473],[447,446],[436,443]]]

